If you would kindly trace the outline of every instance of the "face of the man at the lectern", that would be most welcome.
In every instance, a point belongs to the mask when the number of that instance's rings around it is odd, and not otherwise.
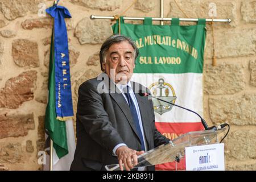
[[[115,83],[127,84],[133,75],[134,62],[134,48],[127,41],[122,41],[110,46],[102,67]]]

